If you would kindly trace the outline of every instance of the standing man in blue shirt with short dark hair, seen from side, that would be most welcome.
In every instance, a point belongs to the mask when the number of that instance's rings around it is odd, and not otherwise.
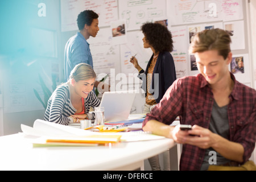
[[[89,43],[86,40],[90,36],[96,37],[97,32],[100,30],[98,27],[98,14],[92,10],[82,11],[77,16],[77,26],[79,27],[79,32],[72,36],[65,46],[65,80],[68,80],[70,72],[79,63],[87,63],[93,68],[92,55]],[[98,86],[98,81],[94,86]]]

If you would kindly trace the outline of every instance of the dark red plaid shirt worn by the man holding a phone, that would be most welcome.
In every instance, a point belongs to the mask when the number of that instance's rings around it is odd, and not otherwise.
[[[255,146],[256,90],[236,81],[234,75],[230,74],[234,80],[234,88],[228,104],[228,139],[242,144],[243,162],[246,162]],[[147,114],[143,126],[151,119],[170,125],[179,115],[181,124],[208,128],[213,102],[209,84],[201,74],[179,78],[166,91],[160,103]],[[204,149],[184,144],[180,170],[200,170],[204,155]]]

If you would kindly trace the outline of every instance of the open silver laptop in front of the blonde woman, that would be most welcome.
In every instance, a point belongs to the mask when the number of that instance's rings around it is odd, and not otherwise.
[[[117,122],[128,119],[136,90],[104,92],[101,107],[104,107],[105,122]]]

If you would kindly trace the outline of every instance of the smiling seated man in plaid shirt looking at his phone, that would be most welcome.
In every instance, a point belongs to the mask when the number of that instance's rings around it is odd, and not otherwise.
[[[256,90],[229,72],[230,43],[224,30],[199,32],[190,52],[200,74],[177,79],[144,119],[144,131],[183,144],[180,170],[207,170],[210,164],[238,166],[254,150]],[[192,125],[192,130],[170,126],[177,116],[180,124]]]

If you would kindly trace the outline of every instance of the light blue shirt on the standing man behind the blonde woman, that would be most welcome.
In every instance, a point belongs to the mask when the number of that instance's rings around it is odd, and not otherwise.
[[[79,63],[87,63],[93,68],[92,55],[89,43],[80,32],[72,36],[65,46],[65,80],[68,80],[70,72]]]

